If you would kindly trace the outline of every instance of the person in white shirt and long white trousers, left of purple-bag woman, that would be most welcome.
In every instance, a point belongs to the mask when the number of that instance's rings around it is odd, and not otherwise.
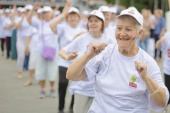
[[[18,67],[18,78],[22,78],[23,65],[25,60],[25,44],[26,38],[30,36],[31,26],[27,21],[28,11],[23,8],[19,8],[20,16],[15,21],[15,28],[17,29],[17,67]]]

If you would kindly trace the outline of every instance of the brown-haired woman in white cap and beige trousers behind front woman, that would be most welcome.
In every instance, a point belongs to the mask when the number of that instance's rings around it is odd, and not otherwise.
[[[59,55],[71,63],[86,52],[90,43],[112,43],[112,41],[108,40],[104,34],[104,22],[105,18],[102,12],[98,10],[92,11],[88,16],[88,32],[74,39],[59,52]],[[87,113],[95,95],[94,79],[89,82],[73,82],[70,86],[70,92],[71,94],[74,94],[75,98],[73,108],[74,113]]]

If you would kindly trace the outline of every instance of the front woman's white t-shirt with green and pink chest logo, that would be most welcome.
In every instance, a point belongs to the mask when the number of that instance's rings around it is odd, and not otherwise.
[[[163,109],[153,103],[135,61],[147,64],[148,75],[166,90],[168,101],[168,90],[152,57],[141,48],[135,56],[126,57],[117,44],[108,45],[85,67],[88,79],[95,79],[95,98],[88,113],[149,113],[148,104],[155,111]]]

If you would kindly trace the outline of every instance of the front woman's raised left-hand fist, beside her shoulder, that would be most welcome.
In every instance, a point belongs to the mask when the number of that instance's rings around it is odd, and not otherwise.
[[[105,47],[107,46],[106,43],[101,43],[101,42],[94,42],[88,45],[86,54],[88,54],[90,57],[94,57],[101,53]]]

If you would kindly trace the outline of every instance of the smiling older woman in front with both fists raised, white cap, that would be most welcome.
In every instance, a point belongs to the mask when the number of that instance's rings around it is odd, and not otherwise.
[[[74,81],[95,79],[88,113],[149,113],[163,110],[169,93],[155,60],[136,45],[143,16],[134,9],[117,16],[117,44],[92,43],[67,70]]]

